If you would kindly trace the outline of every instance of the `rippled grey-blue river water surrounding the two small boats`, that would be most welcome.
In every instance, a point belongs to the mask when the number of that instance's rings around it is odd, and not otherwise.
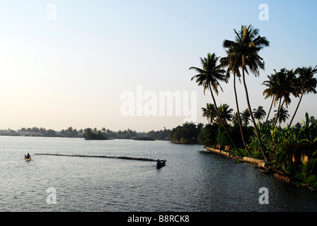
[[[168,141],[85,141],[0,136],[0,211],[315,211],[317,193],[254,165]],[[26,162],[25,153],[33,159]],[[166,159],[156,162],[33,155],[59,153]],[[47,204],[47,189],[57,204]],[[259,189],[269,191],[260,205]]]

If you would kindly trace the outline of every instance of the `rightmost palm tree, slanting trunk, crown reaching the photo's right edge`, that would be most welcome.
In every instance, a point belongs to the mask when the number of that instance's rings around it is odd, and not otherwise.
[[[307,67],[301,67],[296,69],[296,72],[299,74],[299,77],[297,78],[297,87],[294,91],[294,95],[301,96],[299,98],[299,103],[297,104],[297,107],[295,109],[295,112],[293,114],[293,117],[291,121],[289,122],[289,126],[292,125],[292,122],[294,120],[295,114],[297,110],[299,109],[299,104],[301,103],[301,99],[303,98],[303,95],[306,93],[314,93],[316,94],[316,84],[317,80],[316,78],[313,78],[313,75],[317,73],[317,66],[315,68],[312,68],[311,66]]]

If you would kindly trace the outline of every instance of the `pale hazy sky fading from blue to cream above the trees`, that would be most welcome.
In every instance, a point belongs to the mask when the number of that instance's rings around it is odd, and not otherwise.
[[[260,20],[260,4],[268,6],[268,20]],[[1,1],[0,129],[150,131],[183,124],[184,112],[124,116],[122,93],[134,94],[137,106],[140,87],[142,95],[158,97],[158,106],[160,92],[182,98],[196,92],[195,122],[206,123],[201,107],[212,100],[190,81],[195,72],[188,69],[200,67],[208,52],[225,57],[223,40],[234,40],[234,29],[249,24],[270,41],[260,52],[265,71],[247,80],[251,106],[268,112],[260,84],[273,69],[317,65],[316,8],[314,0]],[[223,88],[217,102],[236,111],[232,81]],[[246,109],[242,84],[238,95]],[[295,122],[305,112],[317,117],[316,97],[303,98]],[[292,97],[290,118],[298,101]]]

